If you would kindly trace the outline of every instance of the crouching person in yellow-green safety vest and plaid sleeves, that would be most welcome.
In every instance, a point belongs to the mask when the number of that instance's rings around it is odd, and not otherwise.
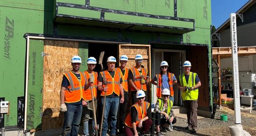
[[[155,125],[156,125],[156,135],[162,136],[160,132],[160,125],[169,126],[168,130],[173,131],[172,124],[176,123],[176,118],[173,114],[173,102],[169,100],[170,91],[169,89],[162,90],[162,98],[159,98],[155,104],[154,111],[155,115]],[[171,125],[170,125],[171,124]]]

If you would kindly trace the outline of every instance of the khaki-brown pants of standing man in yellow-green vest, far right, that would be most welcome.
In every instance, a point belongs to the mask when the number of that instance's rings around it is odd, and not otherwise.
[[[198,100],[183,100],[184,107],[187,111],[188,127],[197,129],[197,104]]]

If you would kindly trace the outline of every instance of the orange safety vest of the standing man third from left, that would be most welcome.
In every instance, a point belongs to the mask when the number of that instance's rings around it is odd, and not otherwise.
[[[114,78],[109,74],[107,70],[104,72],[101,72],[103,82],[102,85],[108,87],[108,90],[106,91],[106,95],[111,95],[112,93],[116,93],[118,96],[120,94],[120,79],[121,75],[119,71],[114,71],[115,75]],[[104,91],[102,91],[101,96],[104,96]]]

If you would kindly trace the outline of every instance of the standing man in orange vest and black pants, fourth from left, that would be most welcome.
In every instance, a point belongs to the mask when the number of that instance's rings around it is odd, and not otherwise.
[[[124,103],[119,105],[119,132],[124,133],[124,119],[126,115],[126,108],[128,105],[129,100],[129,93],[128,93],[128,72],[129,68],[126,67],[128,62],[128,57],[126,55],[120,56],[120,66],[116,68],[117,71],[120,71],[121,77],[123,80],[123,89],[124,89]],[[120,97],[121,98],[121,97]]]

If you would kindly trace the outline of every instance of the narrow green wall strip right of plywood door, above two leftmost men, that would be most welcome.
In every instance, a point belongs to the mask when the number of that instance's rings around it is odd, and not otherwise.
[[[87,70],[87,59],[88,59],[88,43],[79,42],[79,56],[82,59],[82,63],[80,65],[80,71],[84,72]]]

